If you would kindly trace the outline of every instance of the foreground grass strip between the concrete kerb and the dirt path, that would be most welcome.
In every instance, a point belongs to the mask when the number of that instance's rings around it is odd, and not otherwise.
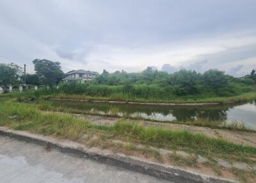
[[[93,134],[104,136],[106,139],[120,139],[129,143],[171,150],[185,150],[207,157],[244,159],[246,162],[252,161],[256,155],[256,148],[237,145],[224,139],[209,138],[204,134],[142,127],[136,123],[125,122],[116,123],[110,127],[94,125],[68,114],[45,113],[36,109],[34,104],[10,101],[1,103],[0,125],[80,142],[83,142],[84,134]]]

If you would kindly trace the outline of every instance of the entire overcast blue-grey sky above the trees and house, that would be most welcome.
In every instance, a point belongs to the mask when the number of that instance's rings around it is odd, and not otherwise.
[[[0,0],[0,62],[137,72],[256,68],[255,0]]]

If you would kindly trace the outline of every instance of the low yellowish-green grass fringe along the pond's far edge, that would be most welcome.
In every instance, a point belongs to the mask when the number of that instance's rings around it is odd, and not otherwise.
[[[117,93],[118,94],[118,93]],[[185,95],[185,96],[172,96],[166,97],[166,99],[161,98],[138,98],[131,97],[128,95],[122,95],[119,93],[117,95],[113,93],[109,97],[100,97],[93,95],[85,95],[85,94],[65,94],[53,88],[51,90],[38,90],[36,92],[23,92],[23,93],[1,93],[1,97],[15,97],[18,99],[74,99],[74,100],[102,100],[102,101],[120,101],[120,102],[145,102],[145,103],[173,103],[173,104],[193,104],[193,103],[234,103],[234,102],[243,102],[248,100],[256,99],[256,92],[245,92],[240,95],[233,95],[231,97],[216,97],[214,95]]]

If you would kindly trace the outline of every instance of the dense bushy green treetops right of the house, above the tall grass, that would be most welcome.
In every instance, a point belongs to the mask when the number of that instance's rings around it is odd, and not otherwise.
[[[168,74],[148,67],[143,72],[136,73],[127,73],[123,70],[108,73],[104,70],[95,78],[93,84],[122,86],[124,93],[143,97],[149,95],[145,93],[151,93],[152,96],[164,93],[166,97],[171,95],[232,96],[250,91],[254,76],[256,76],[255,72],[248,79],[232,77],[216,69],[207,70],[204,74],[191,70],[180,70]]]

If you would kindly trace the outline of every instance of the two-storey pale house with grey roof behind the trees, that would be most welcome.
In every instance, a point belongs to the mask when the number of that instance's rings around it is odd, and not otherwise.
[[[84,83],[86,81],[92,81],[96,76],[99,76],[98,72],[93,72],[90,70],[71,70],[65,74],[65,78],[62,79],[64,82],[77,81],[79,83]]]

